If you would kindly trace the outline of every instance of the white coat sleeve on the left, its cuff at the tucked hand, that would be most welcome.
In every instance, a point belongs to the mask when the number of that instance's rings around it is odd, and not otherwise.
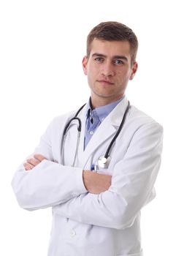
[[[23,163],[12,178],[12,189],[19,205],[27,210],[47,208],[66,202],[87,192],[82,181],[82,168],[53,162],[52,140],[54,121],[42,135],[34,154],[42,154],[43,160],[32,170],[26,171]],[[32,154],[30,157],[33,157]]]

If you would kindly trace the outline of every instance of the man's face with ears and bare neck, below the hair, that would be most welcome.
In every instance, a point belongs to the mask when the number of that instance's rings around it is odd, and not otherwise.
[[[88,76],[93,108],[123,97],[128,80],[137,72],[137,63],[131,67],[131,49],[127,41],[93,39],[90,56],[83,58],[82,67]]]

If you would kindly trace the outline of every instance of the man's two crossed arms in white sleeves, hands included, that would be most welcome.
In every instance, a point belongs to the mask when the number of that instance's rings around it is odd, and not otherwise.
[[[44,137],[38,154],[20,165],[12,180],[18,203],[28,210],[52,206],[55,213],[91,225],[131,226],[142,206],[154,197],[162,136],[162,128],[155,123],[141,127],[112,176],[53,162],[50,141]]]

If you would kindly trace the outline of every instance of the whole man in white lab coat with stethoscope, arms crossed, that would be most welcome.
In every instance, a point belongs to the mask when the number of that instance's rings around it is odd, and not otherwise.
[[[155,196],[163,129],[125,97],[137,48],[121,23],[92,29],[82,60],[91,98],[53,120],[12,180],[21,207],[53,208],[49,256],[142,255],[140,210]]]

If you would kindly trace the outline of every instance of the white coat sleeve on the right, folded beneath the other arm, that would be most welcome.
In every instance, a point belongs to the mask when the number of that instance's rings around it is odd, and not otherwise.
[[[132,138],[126,155],[116,163],[109,190],[100,195],[78,195],[53,207],[53,211],[91,225],[115,229],[131,227],[141,208],[153,199],[162,139],[161,125],[143,125]]]

